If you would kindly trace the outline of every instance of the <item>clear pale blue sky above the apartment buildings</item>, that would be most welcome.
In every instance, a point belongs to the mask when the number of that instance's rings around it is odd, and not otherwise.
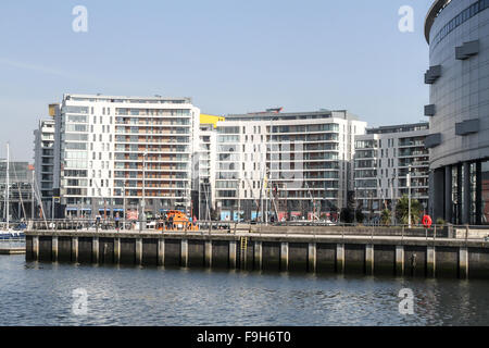
[[[0,158],[33,162],[63,94],[191,97],[203,113],[347,109],[368,126],[426,121],[432,0],[2,0]],[[88,11],[73,30],[73,9]],[[414,10],[401,33],[399,9]]]

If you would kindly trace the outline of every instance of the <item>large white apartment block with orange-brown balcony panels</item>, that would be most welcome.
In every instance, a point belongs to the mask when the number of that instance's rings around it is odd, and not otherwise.
[[[64,95],[53,186],[65,215],[124,216],[124,207],[138,209],[142,197],[148,217],[170,209],[190,213],[199,114],[189,98]]]

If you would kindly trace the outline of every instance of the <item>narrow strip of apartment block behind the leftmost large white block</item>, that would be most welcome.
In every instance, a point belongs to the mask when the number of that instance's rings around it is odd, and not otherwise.
[[[50,105],[57,108],[55,105]],[[42,201],[45,215],[51,216],[54,175],[54,120],[41,120],[34,130],[35,189]]]

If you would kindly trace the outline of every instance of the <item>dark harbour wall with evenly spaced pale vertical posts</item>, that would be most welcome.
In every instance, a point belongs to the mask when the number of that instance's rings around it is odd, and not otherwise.
[[[30,231],[26,261],[489,278],[489,243],[399,236]]]

